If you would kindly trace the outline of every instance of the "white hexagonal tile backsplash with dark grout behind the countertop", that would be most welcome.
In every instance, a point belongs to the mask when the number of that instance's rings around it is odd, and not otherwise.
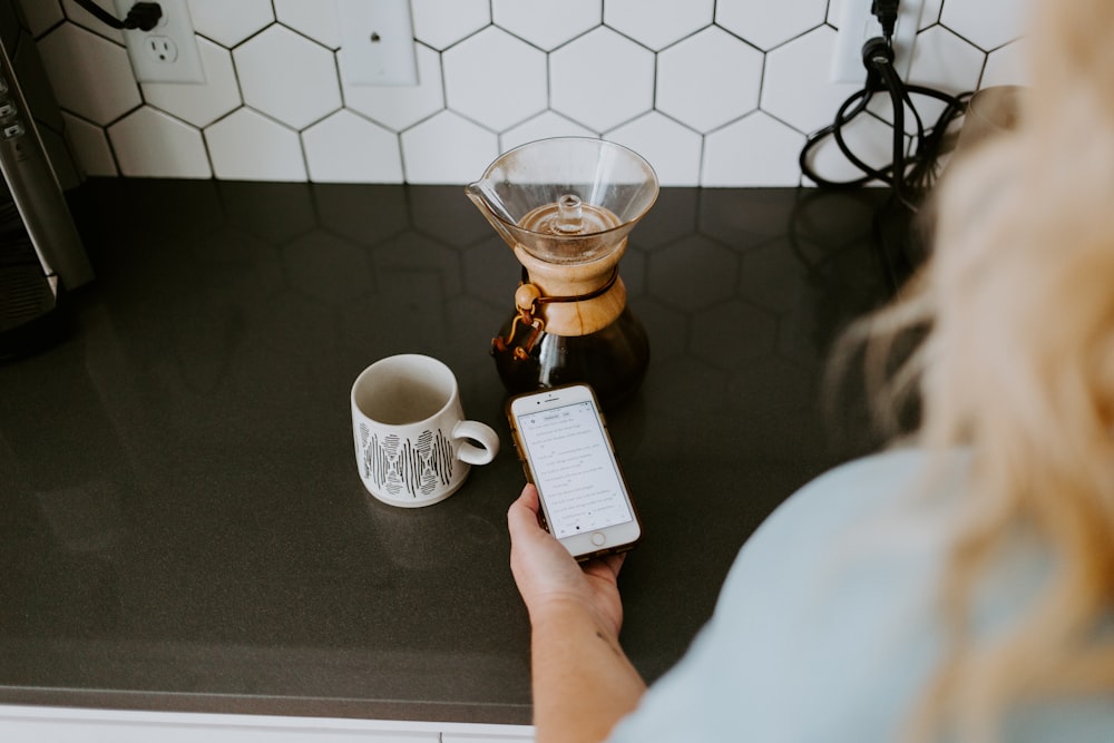
[[[119,31],[12,1],[61,114],[37,111],[43,136],[78,176],[463,184],[576,135],[633,147],[666,186],[795,186],[805,137],[859,88],[828,69],[852,0],[411,0],[413,87],[341,78],[332,2],[187,0],[206,82],[140,85]],[[1024,6],[928,0],[910,81],[1024,84]]]

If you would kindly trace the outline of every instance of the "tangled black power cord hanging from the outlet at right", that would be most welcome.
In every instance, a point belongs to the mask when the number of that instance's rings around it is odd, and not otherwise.
[[[850,0],[849,0],[850,1]],[[862,1],[862,0],[859,0]],[[922,260],[925,248],[913,244],[915,217],[939,175],[939,158],[944,153],[948,127],[967,110],[967,101],[973,92],[951,96],[919,85],[901,80],[893,69],[893,30],[897,26],[898,0],[872,0],[871,12],[878,18],[882,36],[869,39],[862,47],[862,65],[867,70],[863,87],[848,97],[836,113],[836,120],[808,137],[801,149],[799,163],[801,172],[823,188],[857,188],[871,182],[890,186],[890,198],[874,215],[874,235],[879,252],[886,265],[887,277],[895,291]],[[876,95],[890,99],[893,110],[891,160],[888,165],[874,167],[858,157],[848,146],[843,127],[857,117],[868,114],[868,106]],[[925,126],[913,96],[934,98],[945,104],[936,121]],[[911,135],[911,148],[907,149],[906,111],[916,124]],[[862,175],[849,180],[824,178],[811,164],[811,155],[821,143],[831,137],[843,156]],[[888,250],[891,242],[899,244],[898,251]],[[900,265],[899,265],[900,264]]]

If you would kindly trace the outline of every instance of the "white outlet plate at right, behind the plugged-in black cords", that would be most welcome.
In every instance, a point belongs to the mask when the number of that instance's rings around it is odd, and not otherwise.
[[[882,27],[870,12],[871,0],[843,0],[840,11],[839,37],[832,58],[832,82],[862,82],[867,68],[862,63],[862,45],[882,36]],[[912,62],[912,47],[920,27],[925,0],[901,0],[898,21],[893,27],[893,70],[905,80]]]

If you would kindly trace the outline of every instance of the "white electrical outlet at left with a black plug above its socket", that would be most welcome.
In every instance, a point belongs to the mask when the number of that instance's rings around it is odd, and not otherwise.
[[[124,41],[128,46],[131,69],[138,82],[204,82],[194,23],[186,0],[157,0],[163,17],[149,31],[128,29]],[[126,18],[135,0],[115,0],[119,17]]]

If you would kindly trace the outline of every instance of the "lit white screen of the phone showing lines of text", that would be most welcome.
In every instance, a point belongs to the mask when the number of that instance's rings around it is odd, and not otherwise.
[[[518,430],[555,537],[598,531],[634,518],[592,402],[519,416]]]

